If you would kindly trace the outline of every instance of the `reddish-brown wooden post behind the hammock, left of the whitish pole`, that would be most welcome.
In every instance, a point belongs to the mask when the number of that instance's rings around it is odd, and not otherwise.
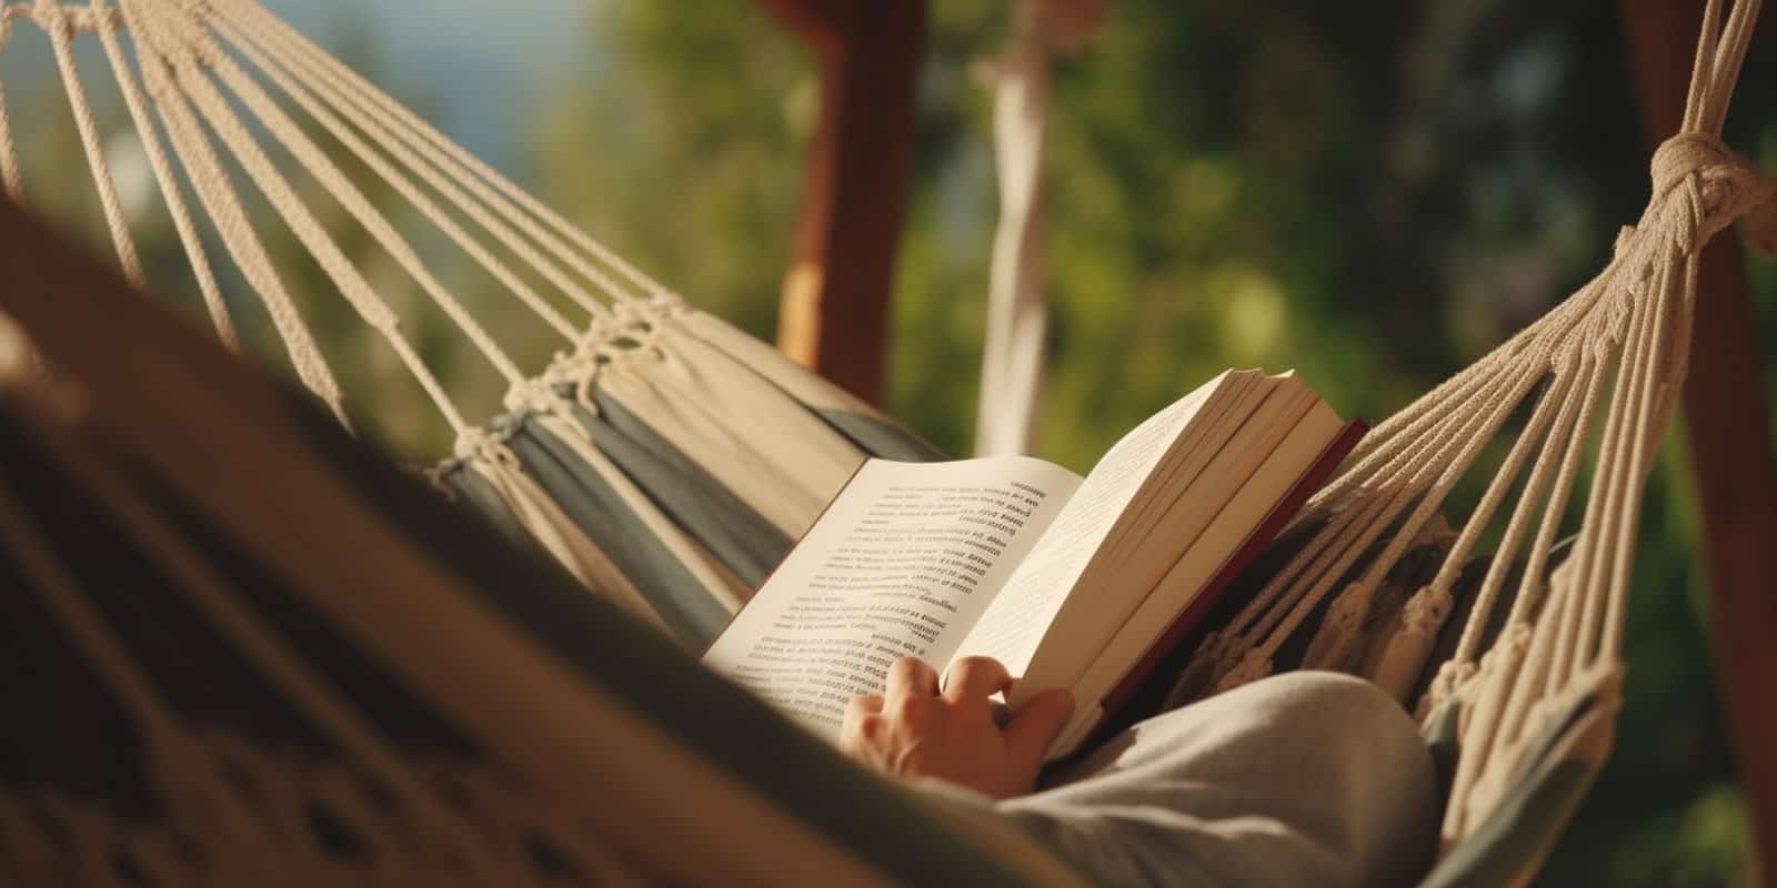
[[[759,2],[821,66],[821,119],[784,277],[778,348],[874,403],[906,217],[926,0]]]

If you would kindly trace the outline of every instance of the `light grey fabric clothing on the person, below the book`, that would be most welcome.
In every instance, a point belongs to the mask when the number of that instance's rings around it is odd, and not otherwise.
[[[1036,794],[970,797],[1105,884],[1411,884],[1438,847],[1418,728],[1338,673],[1253,682],[1136,725]]]

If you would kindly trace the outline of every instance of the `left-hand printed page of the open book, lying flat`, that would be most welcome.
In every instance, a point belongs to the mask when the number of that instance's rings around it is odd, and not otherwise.
[[[869,460],[704,662],[837,739],[896,659],[951,659],[1079,485],[1024,456]]]

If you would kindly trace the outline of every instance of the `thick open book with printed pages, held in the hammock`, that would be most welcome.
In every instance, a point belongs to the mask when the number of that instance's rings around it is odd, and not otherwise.
[[[1226,371],[1080,478],[1027,456],[869,460],[704,661],[812,730],[904,655],[1050,687],[1075,749],[1363,433],[1290,373]]]

